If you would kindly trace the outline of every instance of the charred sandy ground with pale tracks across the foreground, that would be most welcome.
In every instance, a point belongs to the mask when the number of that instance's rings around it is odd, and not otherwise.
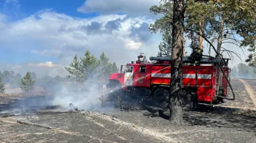
[[[60,106],[31,105],[51,95],[0,95],[1,142],[256,142],[256,80],[232,79],[236,100],[213,110],[183,113],[184,125],[173,125],[142,102],[136,108],[111,106],[98,112]],[[22,103],[22,104],[21,104]],[[9,111],[23,110],[22,114]],[[5,112],[3,112],[5,111]],[[30,125],[18,124],[17,120]],[[37,126],[33,126],[37,125]],[[38,127],[43,125],[43,127]]]

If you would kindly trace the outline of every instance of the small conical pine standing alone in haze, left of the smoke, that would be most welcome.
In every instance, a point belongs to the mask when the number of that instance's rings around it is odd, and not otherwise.
[[[21,89],[23,89],[26,92],[29,92],[30,90],[34,89],[35,81],[33,78],[30,76],[29,72],[21,78]]]

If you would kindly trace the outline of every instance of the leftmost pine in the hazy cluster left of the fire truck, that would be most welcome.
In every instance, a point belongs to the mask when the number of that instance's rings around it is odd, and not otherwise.
[[[77,89],[78,83],[85,82],[84,66],[82,64],[82,61],[77,59],[77,54],[75,55],[73,62],[69,64],[69,66],[70,67],[64,67],[64,68],[70,74],[68,75],[68,77],[73,78],[76,81],[76,89]]]

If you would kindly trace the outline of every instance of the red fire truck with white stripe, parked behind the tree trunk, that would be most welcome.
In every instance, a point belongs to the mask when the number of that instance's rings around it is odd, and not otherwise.
[[[121,72],[110,75],[108,87],[121,86],[123,92],[130,96],[148,96],[158,102],[168,102],[171,57],[150,57],[152,63],[143,63],[140,58],[143,55],[139,55],[137,61],[122,65]],[[227,97],[230,87],[232,89],[227,66],[229,60],[204,56],[198,63],[193,63],[188,57],[183,57],[180,84],[184,99],[193,97],[193,108],[197,105],[217,105],[224,99],[235,100],[235,94],[233,99]]]

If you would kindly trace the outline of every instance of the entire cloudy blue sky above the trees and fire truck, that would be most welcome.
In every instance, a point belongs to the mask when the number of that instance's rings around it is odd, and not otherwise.
[[[61,75],[75,54],[89,49],[102,51],[124,65],[157,55],[161,34],[151,33],[149,24],[159,16],[149,12],[159,0],[0,0],[0,71]],[[204,42],[205,53],[208,46]],[[246,55],[233,45],[225,45]],[[190,52],[190,49],[186,49]],[[213,54],[213,51],[212,51]],[[230,66],[241,61],[235,58]]]

